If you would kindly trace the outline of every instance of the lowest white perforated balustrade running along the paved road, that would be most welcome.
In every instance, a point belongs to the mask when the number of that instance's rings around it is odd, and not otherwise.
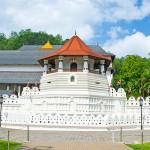
[[[60,114],[60,113],[18,113],[4,112],[2,123],[51,125],[51,126],[129,126],[141,124],[140,114]],[[150,115],[143,114],[143,125],[150,125]]]

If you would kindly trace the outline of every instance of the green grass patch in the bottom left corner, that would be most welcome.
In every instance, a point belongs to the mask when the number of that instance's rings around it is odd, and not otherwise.
[[[16,148],[20,147],[22,143],[17,142],[10,142],[9,143],[9,150],[15,150]],[[0,140],[0,150],[7,150],[8,149],[8,142]]]

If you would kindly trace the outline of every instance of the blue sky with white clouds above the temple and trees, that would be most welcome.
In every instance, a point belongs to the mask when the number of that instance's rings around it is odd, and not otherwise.
[[[99,44],[117,57],[150,53],[150,0],[0,0],[0,33],[30,28]]]

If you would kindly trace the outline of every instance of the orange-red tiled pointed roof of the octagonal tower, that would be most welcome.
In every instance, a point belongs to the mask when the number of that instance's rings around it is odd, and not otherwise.
[[[78,36],[73,36],[58,51],[39,58],[38,60],[48,59],[53,56],[93,56],[105,60],[109,57],[93,52]]]

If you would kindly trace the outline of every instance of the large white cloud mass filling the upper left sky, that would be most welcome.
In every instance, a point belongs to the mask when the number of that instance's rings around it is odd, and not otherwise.
[[[88,40],[94,36],[92,25],[101,19],[99,9],[90,0],[8,0],[3,3],[6,5],[3,13],[10,18],[11,31],[31,28],[33,31],[61,34],[65,39],[77,30],[84,40]],[[4,23],[0,30],[2,26]]]

